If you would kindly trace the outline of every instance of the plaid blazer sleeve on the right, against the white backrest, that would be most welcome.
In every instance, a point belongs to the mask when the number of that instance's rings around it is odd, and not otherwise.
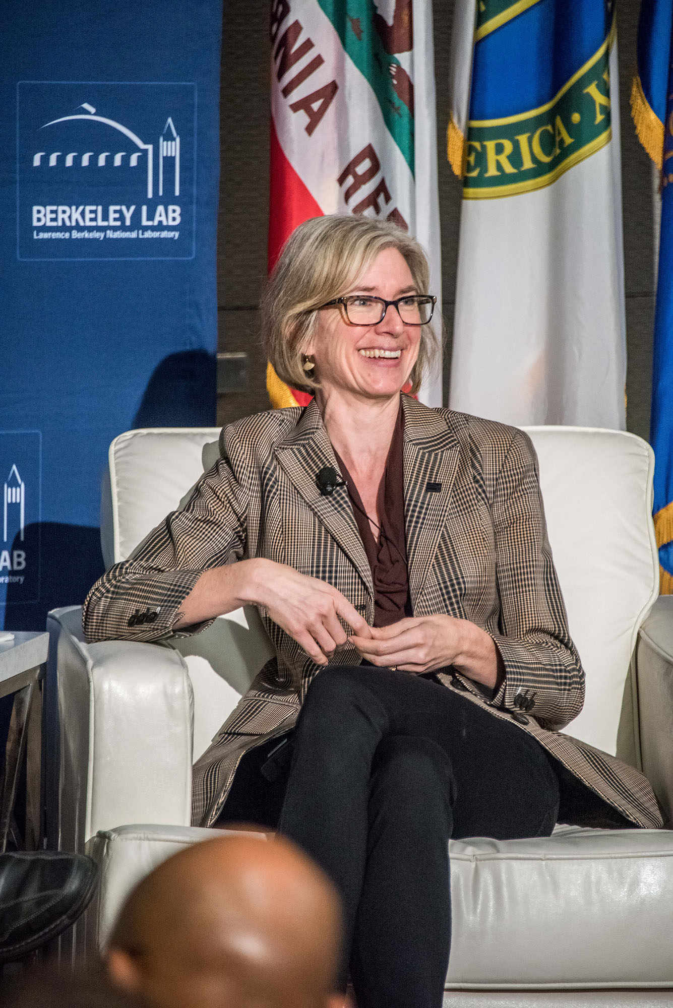
[[[517,710],[523,694],[523,709],[558,731],[582,709],[584,672],[547,538],[535,449],[522,430],[499,473],[492,512],[501,609],[493,638],[506,670],[492,703]]]

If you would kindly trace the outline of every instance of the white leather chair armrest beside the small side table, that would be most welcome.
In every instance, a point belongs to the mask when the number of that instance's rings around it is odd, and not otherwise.
[[[182,656],[135,641],[88,644],[79,606],[53,610],[47,626],[56,650],[59,848],[84,851],[99,830],[126,823],[188,826],[192,694]]]

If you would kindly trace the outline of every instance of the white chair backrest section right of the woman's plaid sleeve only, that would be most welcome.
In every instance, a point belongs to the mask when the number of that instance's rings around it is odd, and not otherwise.
[[[586,672],[568,733],[615,753],[640,626],[659,594],[652,521],[654,453],[641,437],[592,427],[527,427],[540,462],[549,541]],[[624,715],[623,715],[624,707]]]

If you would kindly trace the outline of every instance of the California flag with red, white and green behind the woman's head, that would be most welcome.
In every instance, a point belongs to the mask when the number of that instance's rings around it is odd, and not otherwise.
[[[430,0],[273,0],[269,269],[322,214],[395,221],[428,253],[441,317]],[[269,365],[273,406],[305,405]],[[441,405],[441,376],[420,391]]]

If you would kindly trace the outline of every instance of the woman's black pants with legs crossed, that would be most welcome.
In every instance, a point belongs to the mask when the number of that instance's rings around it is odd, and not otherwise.
[[[221,823],[273,817],[281,790],[260,784],[259,765],[276,744],[237,772]],[[250,814],[251,786],[265,796],[261,815]],[[548,836],[558,805],[558,779],[536,740],[431,678],[365,665],[315,677],[278,829],[342,895],[341,982],[350,966],[359,1008],[439,1008],[448,839]]]

